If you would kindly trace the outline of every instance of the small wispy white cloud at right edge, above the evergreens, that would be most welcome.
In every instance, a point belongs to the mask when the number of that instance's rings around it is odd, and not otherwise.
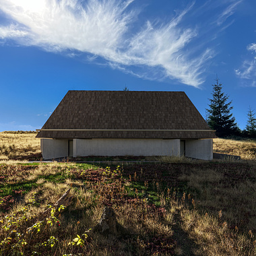
[[[242,79],[253,80],[253,82],[251,82],[251,86],[255,87],[254,80],[256,79],[256,44],[249,44],[247,46],[247,50],[251,51],[253,56],[243,61],[242,66],[239,69],[235,69],[234,72],[236,75],[238,75],[238,77]]]

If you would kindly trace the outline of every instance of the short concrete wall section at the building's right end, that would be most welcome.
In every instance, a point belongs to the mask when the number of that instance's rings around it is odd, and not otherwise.
[[[185,156],[202,160],[213,159],[212,139],[191,139],[185,141]]]

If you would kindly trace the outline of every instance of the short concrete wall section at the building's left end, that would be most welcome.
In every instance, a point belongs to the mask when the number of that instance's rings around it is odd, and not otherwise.
[[[41,139],[43,159],[62,158],[68,154],[67,139]]]

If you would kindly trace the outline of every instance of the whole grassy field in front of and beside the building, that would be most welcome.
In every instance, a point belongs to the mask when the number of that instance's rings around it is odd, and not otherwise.
[[[32,164],[34,135],[0,133],[1,255],[256,255],[255,142],[214,141],[241,161]],[[71,205],[38,217],[69,188]],[[106,205],[126,235],[90,230]]]

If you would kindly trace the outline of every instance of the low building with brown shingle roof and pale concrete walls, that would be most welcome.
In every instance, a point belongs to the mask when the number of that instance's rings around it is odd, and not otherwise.
[[[185,155],[212,160],[216,137],[185,92],[69,91],[38,131],[44,159]]]

